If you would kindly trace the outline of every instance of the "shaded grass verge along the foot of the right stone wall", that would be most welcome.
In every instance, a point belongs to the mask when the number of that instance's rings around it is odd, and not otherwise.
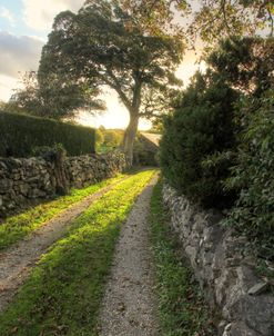
[[[215,335],[200,288],[168,226],[161,190],[162,186],[158,184],[151,199],[150,237],[162,335]]]

